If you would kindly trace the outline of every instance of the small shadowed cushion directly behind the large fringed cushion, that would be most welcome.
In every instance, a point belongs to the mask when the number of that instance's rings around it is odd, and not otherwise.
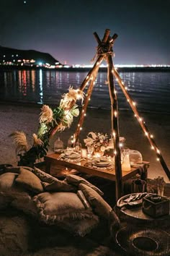
[[[73,187],[64,181],[60,181],[59,179],[52,183],[42,182],[42,186],[44,187],[44,190],[48,192],[76,192],[76,187]]]

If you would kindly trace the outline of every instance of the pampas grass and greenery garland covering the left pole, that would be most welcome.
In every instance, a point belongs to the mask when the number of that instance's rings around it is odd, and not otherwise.
[[[11,135],[16,144],[16,152],[19,156],[19,166],[33,166],[36,159],[40,159],[48,153],[50,137],[55,135],[57,131],[63,131],[67,127],[71,127],[73,116],[79,116],[79,108],[76,105],[77,100],[84,100],[83,91],[72,87],[68,89],[68,93],[62,96],[60,106],[53,110],[44,105],[41,108],[39,128],[37,135],[33,134],[33,145],[29,149],[27,137],[24,132],[15,131]]]

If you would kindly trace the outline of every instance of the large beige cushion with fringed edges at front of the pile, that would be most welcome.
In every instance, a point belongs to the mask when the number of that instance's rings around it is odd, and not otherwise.
[[[48,224],[70,218],[71,220],[94,218],[86,210],[79,197],[72,192],[44,192],[33,197],[40,214],[40,220]]]

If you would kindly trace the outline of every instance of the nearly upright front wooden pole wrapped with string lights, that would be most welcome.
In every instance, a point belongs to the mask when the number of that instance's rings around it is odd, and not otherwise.
[[[107,55],[107,78],[109,82],[109,97],[111,101],[111,125],[115,155],[115,175],[116,175],[116,200],[122,197],[122,168],[120,155],[120,140],[119,140],[119,123],[118,123],[118,108],[117,95],[115,93],[115,85],[113,80],[113,63],[112,56]]]

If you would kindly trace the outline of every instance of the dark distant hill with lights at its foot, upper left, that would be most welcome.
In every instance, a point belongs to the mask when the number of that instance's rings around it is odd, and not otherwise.
[[[32,60],[32,61],[31,61]],[[30,62],[31,61],[31,62]],[[35,50],[19,50],[15,48],[7,48],[0,46],[0,63],[1,64],[50,64],[50,65],[61,65],[61,63],[54,59],[53,56],[47,53],[43,53],[41,51]]]

